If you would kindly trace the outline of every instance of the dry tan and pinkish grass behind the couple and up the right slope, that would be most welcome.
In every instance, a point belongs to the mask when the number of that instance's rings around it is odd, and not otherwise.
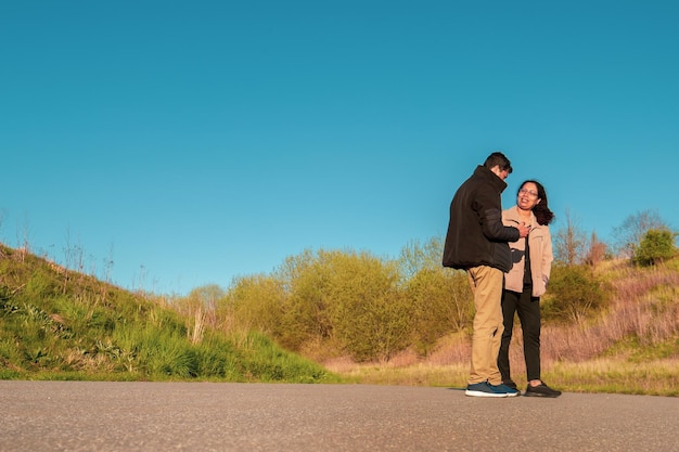
[[[542,377],[568,391],[679,396],[679,270],[676,262],[637,269],[604,261],[597,269],[614,287],[611,308],[580,324],[543,325]],[[525,385],[521,327],[510,347],[512,374]],[[357,382],[463,387],[469,334],[441,339],[426,359],[406,351],[383,364],[335,359],[325,366]]]

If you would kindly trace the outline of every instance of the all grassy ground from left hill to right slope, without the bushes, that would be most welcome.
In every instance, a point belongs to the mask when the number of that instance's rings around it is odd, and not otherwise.
[[[558,284],[556,275],[568,272],[553,274],[542,300],[543,378],[566,391],[679,396],[679,258],[646,268],[605,260],[593,272],[606,302],[576,309],[571,320],[554,311],[559,292],[581,287],[567,279]],[[180,305],[0,245],[0,378],[463,387],[469,375],[469,327],[440,338],[426,356],[409,347],[388,361],[356,362],[312,347],[306,357],[291,353],[244,328],[214,328],[200,309]],[[561,321],[550,312],[561,312]],[[514,379],[525,385],[518,325],[510,359]]]

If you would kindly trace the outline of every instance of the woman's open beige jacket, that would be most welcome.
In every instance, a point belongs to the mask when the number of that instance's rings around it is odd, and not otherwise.
[[[517,207],[513,206],[502,211],[504,225],[516,225],[521,219]],[[552,235],[549,225],[538,224],[535,215],[530,214],[531,230],[528,234],[528,247],[530,249],[530,274],[533,276],[533,296],[541,297],[547,289],[547,282],[552,270],[554,255],[552,250]],[[512,269],[504,273],[504,288],[512,292],[524,289],[524,254],[526,250],[525,238],[510,242],[512,251]]]

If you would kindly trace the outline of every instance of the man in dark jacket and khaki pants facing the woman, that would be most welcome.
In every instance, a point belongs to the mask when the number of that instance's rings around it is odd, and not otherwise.
[[[509,242],[528,235],[529,228],[502,224],[501,194],[512,172],[510,160],[495,152],[454,194],[444,246],[444,267],[463,269],[474,294],[472,369],[465,395],[514,397],[518,390],[502,384],[498,351],[502,339],[503,275],[512,268]]]

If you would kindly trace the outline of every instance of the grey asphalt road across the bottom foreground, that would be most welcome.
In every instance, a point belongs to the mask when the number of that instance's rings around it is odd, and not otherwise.
[[[0,382],[0,451],[679,451],[679,398]]]

